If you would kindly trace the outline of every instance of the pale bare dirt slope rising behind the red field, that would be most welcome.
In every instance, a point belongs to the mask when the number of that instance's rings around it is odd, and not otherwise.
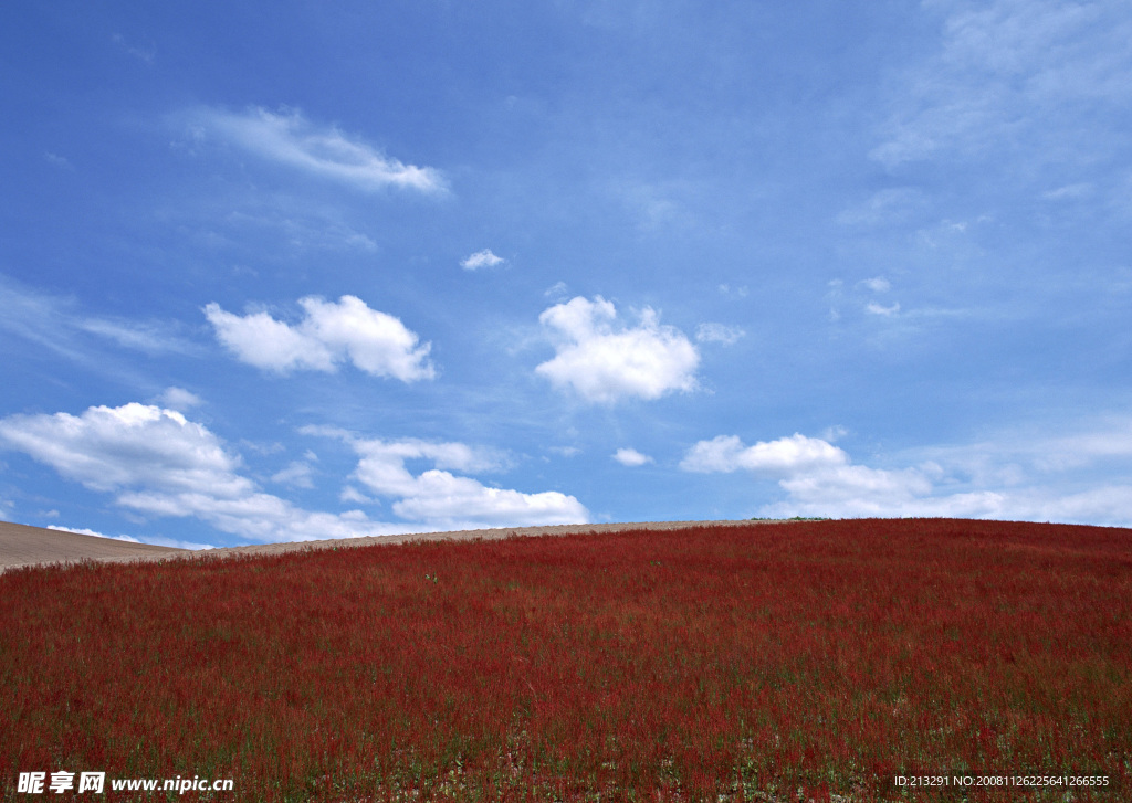
[[[20,565],[43,563],[77,563],[84,560],[122,563],[183,558],[278,554],[302,550],[346,549],[375,544],[400,544],[408,541],[495,541],[517,535],[571,535],[575,533],[615,533],[624,529],[680,529],[685,527],[720,527],[751,525],[751,521],[640,521],[625,524],[567,524],[551,527],[500,527],[465,529],[454,533],[414,533],[367,538],[299,541],[286,544],[255,544],[221,550],[178,550],[172,546],[131,544],[126,541],[78,535],[42,527],[0,521],[0,572]],[[769,523],[762,523],[769,524]]]

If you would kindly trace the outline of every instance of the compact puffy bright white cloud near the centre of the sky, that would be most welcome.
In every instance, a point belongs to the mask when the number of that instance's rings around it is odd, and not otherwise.
[[[679,329],[661,326],[651,308],[641,312],[637,326],[615,327],[611,302],[578,296],[543,311],[539,322],[557,354],[535,372],[586,402],[657,399],[696,388],[700,353]]]

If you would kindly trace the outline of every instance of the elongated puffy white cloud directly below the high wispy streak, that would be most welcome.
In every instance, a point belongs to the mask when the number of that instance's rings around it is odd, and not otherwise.
[[[337,303],[309,296],[299,304],[307,316],[293,327],[266,312],[240,317],[216,303],[205,308],[205,316],[239,360],[264,370],[329,372],[349,360],[366,373],[404,382],[436,375],[428,360],[431,345],[418,345],[420,338],[397,318],[352,295]]]

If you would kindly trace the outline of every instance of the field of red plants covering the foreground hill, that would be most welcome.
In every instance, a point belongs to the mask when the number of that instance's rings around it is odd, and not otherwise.
[[[0,576],[0,689],[3,800],[175,776],[241,801],[1132,800],[1132,530],[852,520],[24,569]],[[29,771],[108,791],[25,794]]]

